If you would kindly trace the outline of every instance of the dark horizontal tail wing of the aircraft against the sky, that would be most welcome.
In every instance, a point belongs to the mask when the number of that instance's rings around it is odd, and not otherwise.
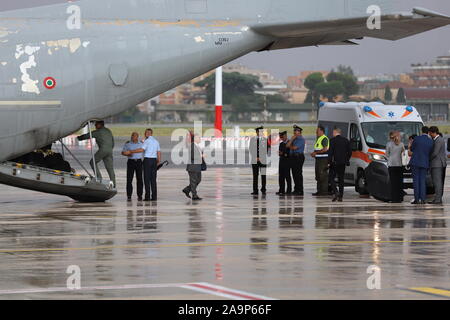
[[[264,24],[253,27],[258,33],[276,40],[265,50],[277,50],[326,44],[354,44],[364,37],[399,40],[450,24],[450,17],[427,9],[414,8],[412,13],[381,16],[381,29],[367,27],[368,16],[326,21],[286,24]]]

